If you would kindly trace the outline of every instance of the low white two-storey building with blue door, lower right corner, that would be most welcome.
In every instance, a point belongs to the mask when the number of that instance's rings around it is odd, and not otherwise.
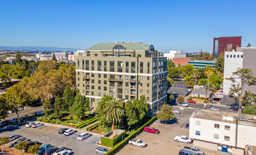
[[[244,155],[246,145],[256,146],[256,116],[198,109],[189,118],[194,145]]]

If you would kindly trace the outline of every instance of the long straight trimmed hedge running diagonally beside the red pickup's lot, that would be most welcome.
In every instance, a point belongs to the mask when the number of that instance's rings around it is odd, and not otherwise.
[[[148,121],[146,124],[144,124],[143,126],[141,126],[138,130],[136,130],[134,133],[132,133],[131,135],[129,135],[128,137],[126,137],[123,141],[117,143],[111,150],[109,150],[105,155],[114,155],[115,153],[117,153],[117,151],[119,151],[122,147],[124,147],[126,144],[128,144],[128,141],[134,137],[136,137],[136,134],[138,135],[139,133],[141,133],[144,129],[145,126],[149,126],[150,124],[152,124],[154,121],[157,120],[157,117],[153,117],[152,119],[150,119],[150,121]]]

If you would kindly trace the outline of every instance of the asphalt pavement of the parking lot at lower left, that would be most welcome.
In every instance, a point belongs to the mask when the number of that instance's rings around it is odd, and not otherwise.
[[[26,137],[31,141],[39,141],[41,145],[45,145],[45,138],[48,137],[50,140],[47,140],[47,144],[52,146],[57,146],[58,148],[66,147],[72,151],[72,154],[88,154],[94,155],[95,149],[100,147],[96,145],[100,141],[100,137],[97,134],[93,134],[91,137],[83,141],[77,139],[78,135],[83,132],[83,130],[78,130],[78,132],[73,133],[70,136],[61,135],[58,133],[61,126],[44,125],[38,128],[26,128],[25,126],[20,126],[19,128],[1,132],[0,137],[9,136],[13,134],[20,135],[20,137]],[[9,142],[6,146],[14,143],[15,141]]]

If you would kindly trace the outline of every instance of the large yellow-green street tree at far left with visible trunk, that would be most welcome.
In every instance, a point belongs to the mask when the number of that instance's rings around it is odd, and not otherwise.
[[[19,106],[24,109],[24,106],[28,106],[31,104],[30,95],[21,87],[21,84],[18,83],[13,85],[6,91],[6,101],[9,103],[10,110],[17,114],[17,117],[20,122],[19,117]]]

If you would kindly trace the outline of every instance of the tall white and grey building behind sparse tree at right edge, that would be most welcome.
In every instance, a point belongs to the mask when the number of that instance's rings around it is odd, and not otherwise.
[[[256,47],[238,47],[237,51],[226,51],[224,55],[224,80],[223,80],[223,92],[228,94],[232,82],[226,78],[232,76],[232,72],[236,72],[237,68],[250,68],[256,76]],[[239,81],[238,81],[239,82]],[[256,94],[256,86],[245,86],[245,90],[250,90]]]

